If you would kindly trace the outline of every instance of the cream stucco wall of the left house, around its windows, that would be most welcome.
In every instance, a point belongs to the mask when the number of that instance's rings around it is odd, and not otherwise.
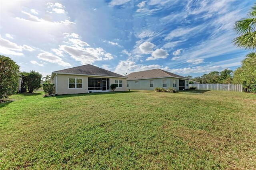
[[[57,75],[57,94],[79,94],[79,93],[88,93],[88,77],[96,78],[109,78],[110,85],[115,84],[115,80],[122,80],[122,87],[116,88],[117,91],[126,91],[126,78],[113,78],[113,77],[101,77],[101,76],[82,76],[82,75],[69,75],[69,74],[58,74]],[[82,78],[83,79],[83,88],[68,88],[68,78]],[[52,78],[52,83],[56,85],[56,76]],[[89,90],[92,92],[102,92],[101,90]],[[112,91],[111,89],[109,90]]]

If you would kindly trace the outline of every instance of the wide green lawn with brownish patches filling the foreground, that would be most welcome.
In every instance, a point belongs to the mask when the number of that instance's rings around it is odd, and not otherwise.
[[[42,96],[0,104],[0,169],[256,169],[254,94]]]

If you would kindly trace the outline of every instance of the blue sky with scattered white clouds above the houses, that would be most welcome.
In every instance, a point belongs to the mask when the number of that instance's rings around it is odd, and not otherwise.
[[[232,45],[232,27],[253,2],[1,1],[0,55],[44,76],[82,64],[119,74],[235,70],[249,51]]]

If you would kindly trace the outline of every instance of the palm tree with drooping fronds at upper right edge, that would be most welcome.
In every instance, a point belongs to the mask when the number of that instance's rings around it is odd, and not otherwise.
[[[234,30],[240,35],[233,40],[234,45],[244,49],[256,49],[256,2],[250,8],[249,18],[236,21]]]

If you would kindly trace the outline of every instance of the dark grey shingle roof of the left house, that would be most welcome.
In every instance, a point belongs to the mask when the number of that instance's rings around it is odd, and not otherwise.
[[[83,66],[77,66],[72,68],[67,68],[64,70],[58,70],[54,71],[53,73],[71,73],[71,74],[86,74],[86,75],[95,75],[95,76],[111,76],[111,77],[122,77],[125,78],[125,76],[122,76],[120,74],[117,74],[115,72],[111,72],[108,70],[105,70],[100,67],[96,67],[90,64],[86,64]]]

